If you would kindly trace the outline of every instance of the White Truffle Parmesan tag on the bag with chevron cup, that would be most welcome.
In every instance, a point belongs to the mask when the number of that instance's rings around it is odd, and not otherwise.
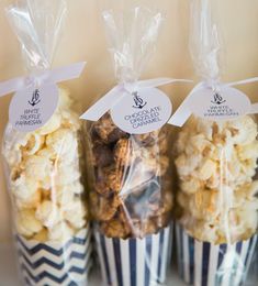
[[[9,121],[21,132],[43,127],[54,114],[59,98],[56,85],[18,91],[10,103]]]

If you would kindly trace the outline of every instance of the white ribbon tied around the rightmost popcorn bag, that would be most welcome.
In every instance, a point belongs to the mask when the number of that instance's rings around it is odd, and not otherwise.
[[[216,85],[218,87],[220,86],[233,87],[233,86],[247,85],[247,84],[257,82],[257,81],[258,81],[258,77],[253,77],[253,78],[247,78],[244,80],[238,80],[238,81],[233,81],[233,82],[227,82],[227,84],[216,84]],[[192,99],[192,95],[195,94],[198,90],[201,90],[203,87],[212,88],[212,86],[205,81],[201,81],[200,84],[198,84],[192,89],[190,95],[183,100],[183,102],[178,108],[178,110],[175,112],[175,114],[170,118],[170,120],[168,121],[169,124],[176,125],[176,127],[182,127],[187,122],[187,120],[192,114],[191,106],[189,103]],[[251,105],[251,110],[249,113],[250,114],[258,113],[258,103]]]

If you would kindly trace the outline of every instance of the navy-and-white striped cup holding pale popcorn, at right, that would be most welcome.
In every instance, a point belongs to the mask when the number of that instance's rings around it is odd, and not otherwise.
[[[246,278],[257,235],[234,244],[200,242],[176,226],[178,268],[182,279],[195,286],[238,286]]]

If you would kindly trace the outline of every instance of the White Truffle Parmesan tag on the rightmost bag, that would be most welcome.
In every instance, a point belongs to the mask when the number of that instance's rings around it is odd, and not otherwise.
[[[217,91],[211,88],[198,88],[190,96],[191,111],[210,120],[232,120],[247,114],[251,109],[249,98],[240,90],[220,86]]]

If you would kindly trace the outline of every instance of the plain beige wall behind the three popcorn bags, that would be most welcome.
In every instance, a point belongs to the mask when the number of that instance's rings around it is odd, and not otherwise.
[[[57,1],[57,0],[53,0]],[[122,0],[116,0],[120,2]],[[131,1],[131,0],[125,0]],[[212,0],[211,0],[212,1]],[[18,41],[4,18],[0,0],[0,80],[24,74]],[[11,1],[9,1],[11,2]],[[100,11],[103,2],[97,0],[67,0],[68,18],[54,66],[87,61],[81,78],[67,82],[74,96],[87,108],[90,102],[114,85],[113,67]],[[139,4],[146,1],[135,1]],[[148,1],[147,1],[148,2]],[[214,0],[224,40],[223,79],[237,80],[258,76],[258,1]],[[190,0],[156,0],[155,6],[166,15],[157,51],[143,78],[159,76],[194,78],[188,51]],[[166,87],[175,108],[191,87]],[[258,84],[243,87],[253,100],[258,99]],[[0,99],[0,141],[8,120],[10,96]],[[0,167],[0,242],[11,238],[10,202]]]

